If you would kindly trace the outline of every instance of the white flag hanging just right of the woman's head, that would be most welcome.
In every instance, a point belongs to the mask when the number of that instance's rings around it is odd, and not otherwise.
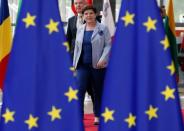
[[[114,19],[112,16],[112,10],[111,10],[111,5],[109,0],[104,0],[101,23],[108,27],[111,37],[113,37],[115,33],[115,24],[114,24]]]

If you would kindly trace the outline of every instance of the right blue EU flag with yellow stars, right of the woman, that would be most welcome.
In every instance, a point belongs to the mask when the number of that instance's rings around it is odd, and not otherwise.
[[[107,70],[100,131],[183,131],[156,0],[123,0]]]

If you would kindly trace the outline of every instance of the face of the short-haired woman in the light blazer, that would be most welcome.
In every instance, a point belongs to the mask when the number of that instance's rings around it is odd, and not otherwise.
[[[96,14],[93,10],[86,10],[84,12],[84,20],[86,23],[96,22]]]

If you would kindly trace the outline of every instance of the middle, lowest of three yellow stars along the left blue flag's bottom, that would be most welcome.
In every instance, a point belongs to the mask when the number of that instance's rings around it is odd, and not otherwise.
[[[33,117],[31,114],[29,115],[29,119],[25,121],[25,123],[29,126],[29,130],[33,127],[38,127],[37,124],[38,117]]]

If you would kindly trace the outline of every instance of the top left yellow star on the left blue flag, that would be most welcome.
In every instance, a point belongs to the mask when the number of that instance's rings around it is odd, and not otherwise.
[[[26,28],[30,26],[35,26],[36,16],[32,16],[29,12],[27,13],[26,18],[23,18],[22,21],[26,24]]]

